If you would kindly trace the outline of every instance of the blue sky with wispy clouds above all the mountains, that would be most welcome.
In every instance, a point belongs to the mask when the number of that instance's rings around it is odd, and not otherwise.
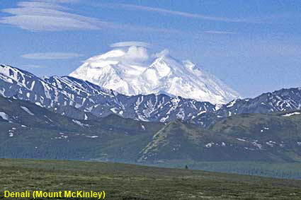
[[[38,76],[67,75],[112,43],[141,41],[243,97],[301,86],[301,1],[1,0],[0,9],[0,63]]]

